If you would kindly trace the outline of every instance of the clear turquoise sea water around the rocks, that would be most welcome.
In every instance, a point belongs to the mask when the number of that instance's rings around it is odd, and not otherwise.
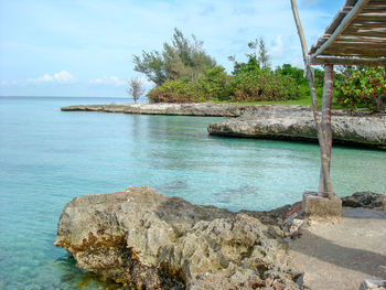
[[[101,98],[0,97],[0,289],[104,289],[53,241],[64,205],[83,194],[149,185],[233,211],[269,210],[315,190],[310,143],[210,137],[222,118],[62,112]],[[341,195],[386,191],[386,153],[333,148]]]

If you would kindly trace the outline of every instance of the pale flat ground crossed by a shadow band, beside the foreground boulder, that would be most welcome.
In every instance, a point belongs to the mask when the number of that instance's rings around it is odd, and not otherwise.
[[[353,290],[365,278],[386,280],[386,211],[344,208],[339,224],[311,225],[291,243],[290,256],[312,290]]]

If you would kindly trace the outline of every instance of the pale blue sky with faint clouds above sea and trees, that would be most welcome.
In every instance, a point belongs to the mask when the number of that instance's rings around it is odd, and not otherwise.
[[[298,0],[308,45],[344,0]],[[266,42],[274,67],[302,67],[290,0],[0,0],[0,96],[126,97],[132,56],[160,51],[174,28],[219,65]]]

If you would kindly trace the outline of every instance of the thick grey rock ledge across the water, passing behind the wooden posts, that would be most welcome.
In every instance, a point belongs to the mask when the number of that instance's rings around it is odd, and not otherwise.
[[[332,115],[334,143],[386,149],[386,115]],[[219,136],[318,141],[312,111],[301,106],[260,106],[239,118],[211,123],[207,130]]]

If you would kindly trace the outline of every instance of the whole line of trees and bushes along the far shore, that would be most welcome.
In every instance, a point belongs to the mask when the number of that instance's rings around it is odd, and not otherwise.
[[[309,98],[308,80],[301,68],[290,64],[271,68],[264,40],[248,43],[246,62],[229,56],[228,74],[203,49],[194,35],[187,39],[174,29],[162,51],[133,56],[135,71],[156,84],[147,97],[151,103],[260,101]],[[315,68],[319,97],[323,92],[323,71]],[[334,98],[343,107],[382,109],[386,98],[385,69],[341,67],[336,72]]]

